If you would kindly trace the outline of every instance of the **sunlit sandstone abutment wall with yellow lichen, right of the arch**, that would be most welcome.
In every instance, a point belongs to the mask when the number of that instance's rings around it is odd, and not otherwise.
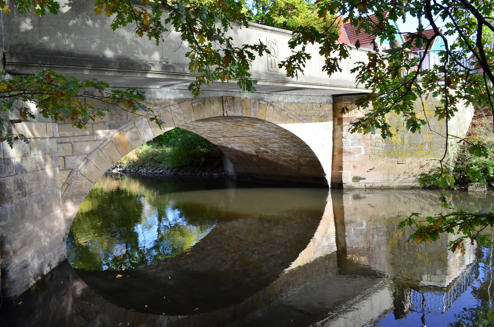
[[[429,97],[415,103],[415,112],[423,119],[426,115],[429,125],[421,133],[412,134],[407,130],[403,117],[390,113],[386,117],[391,125],[393,137],[383,139],[380,132],[359,134],[349,132],[350,123],[356,122],[366,112],[353,103],[358,96],[334,98],[333,163],[332,187],[382,188],[418,187],[415,176],[427,172],[442,158],[446,150],[446,122],[434,117],[438,99]],[[346,107],[345,112],[342,111]],[[459,106],[456,118],[449,124],[450,133],[464,136],[472,117],[470,107]],[[454,132],[452,132],[454,131]],[[450,138],[448,162],[456,160],[455,140]]]

